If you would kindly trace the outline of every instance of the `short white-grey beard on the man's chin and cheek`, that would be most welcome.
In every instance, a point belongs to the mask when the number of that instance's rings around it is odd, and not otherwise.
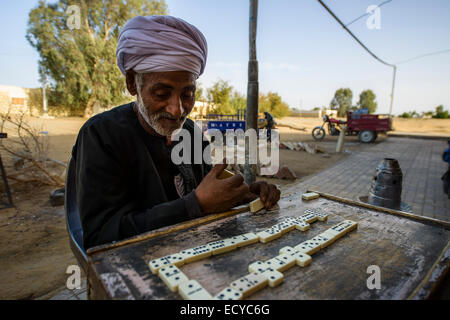
[[[141,95],[137,94],[136,99],[136,105],[138,107],[139,113],[141,114],[142,118],[144,118],[144,121],[153,129],[156,131],[157,134],[168,137],[171,136],[174,131],[177,129],[180,129],[187,118],[187,113],[183,111],[183,114],[180,118],[175,118],[170,113],[161,110],[155,113],[149,113],[149,109],[145,106],[144,101],[142,100]],[[176,121],[176,127],[175,128],[165,128],[159,120],[161,119],[170,119]]]

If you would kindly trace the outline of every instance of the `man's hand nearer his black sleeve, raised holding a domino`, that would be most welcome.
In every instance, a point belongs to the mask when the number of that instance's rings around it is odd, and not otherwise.
[[[226,167],[227,164],[215,165],[195,189],[202,212],[213,213],[231,209],[249,193],[250,189],[240,174],[227,179],[218,178]]]

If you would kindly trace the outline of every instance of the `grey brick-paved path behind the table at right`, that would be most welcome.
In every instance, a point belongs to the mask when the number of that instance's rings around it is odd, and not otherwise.
[[[344,146],[345,148],[345,146]],[[364,148],[335,166],[301,184],[342,198],[358,200],[367,196],[378,163],[397,159],[403,172],[402,202],[415,214],[450,221],[450,199],[443,191],[441,176],[447,170],[442,140],[389,137]]]

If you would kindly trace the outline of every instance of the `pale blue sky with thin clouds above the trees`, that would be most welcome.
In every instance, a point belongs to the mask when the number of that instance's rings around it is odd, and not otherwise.
[[[247,92],[248,0],[166,0],[169,14],[198,27],[208,41],[202,87],[222,79]],[[324,0],[349,23],[385,0]],[[1,1],[0,85],[38,87],[39,55],[25,39],[28,13],[37,0]],[[375,16],[349,29],[375,55],[397,64],[450,49],[449,0],[392,0]],[[316,0],[259,0],[257,28],[259,90],[277,92],[291,108],[329,106],[339,88],[359,94],[371,89],[377,113],[388,113],[393,68],[375,60]],[[450,52],[398,64],[393,113],[450,109]]]

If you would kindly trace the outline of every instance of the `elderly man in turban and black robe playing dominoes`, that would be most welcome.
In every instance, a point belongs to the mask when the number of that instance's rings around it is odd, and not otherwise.
[[[219,179],[225,164],[211,168],[171,160],[172,133],[184,128],[194,137],[195,124],[187,115],[206,57],[204,36],[181,19],[139,16],[124,26],[117,63],[136,102],[89,119],[72,151],[85,249],[225,211],[257,196],[266,208],[278,202],[274,185],[248,186],[241,175]]]

